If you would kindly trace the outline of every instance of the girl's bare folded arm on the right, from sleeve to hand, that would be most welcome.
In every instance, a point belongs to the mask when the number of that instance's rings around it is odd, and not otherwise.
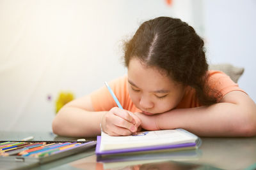
[[[198,136],[256,135],[256,105],[240,91],[229,92],[220,103],[211,106],[176,109],[151,117],[136,115],[141,118],[142,127],[154,125],[153,129],[183,128]]]

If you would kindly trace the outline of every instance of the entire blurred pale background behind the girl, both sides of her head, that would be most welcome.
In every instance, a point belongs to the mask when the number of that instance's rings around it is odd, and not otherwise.
[[[253,0],[0,0],[0,130],[51,131],[59,97],[124,75],[123,42],[160,16],[193,26],[209,64],[244,67],[239,86],[256,101],[255,9]]]

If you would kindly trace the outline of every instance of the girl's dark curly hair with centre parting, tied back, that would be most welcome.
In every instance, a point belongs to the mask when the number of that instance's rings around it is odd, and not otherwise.
[[[200,104],[217,103],[217,93],[207,85],[204,41],[186,22],[170,17],[143,22],[131,40],[124,43],[125,66],[129,67],[134,57],[195,89]]]

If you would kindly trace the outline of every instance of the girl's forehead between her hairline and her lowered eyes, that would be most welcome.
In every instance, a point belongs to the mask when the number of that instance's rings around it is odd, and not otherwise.
[[[178,84],[161,69],[147,66],[138,59],[131,59],[129,62],[128,79],[136,86],[148,90],[170,90]]]

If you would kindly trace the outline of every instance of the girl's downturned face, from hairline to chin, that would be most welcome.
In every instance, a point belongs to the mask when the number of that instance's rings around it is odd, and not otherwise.
[[[132,102],[145,115],[172,110],[180,103],[186,89],[156,67],[146,67],[136,58],[129,62],[128,83]]]

